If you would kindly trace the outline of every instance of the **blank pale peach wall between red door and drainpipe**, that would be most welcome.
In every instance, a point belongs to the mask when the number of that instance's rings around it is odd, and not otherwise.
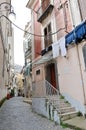
[[[83,104],[82,80],[76,46],[68,49],[67,53],[68,58],[57,59],[60,92],[69,94]]]

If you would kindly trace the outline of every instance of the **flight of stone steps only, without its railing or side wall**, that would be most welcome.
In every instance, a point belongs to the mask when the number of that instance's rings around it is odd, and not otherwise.
[[[77,116],[77,111],[71,104],[64,99],[63,96],[51,96],[49,97],[50,104],[53,106],[53,109],[57,111],[58,116],[61,121],[71,119]]]

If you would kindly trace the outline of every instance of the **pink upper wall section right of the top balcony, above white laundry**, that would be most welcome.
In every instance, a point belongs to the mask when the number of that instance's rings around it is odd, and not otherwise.
[[[59,31],[57,33],[57,38],[61,38],[66,34],[66,32],[70,32],[72,30],[72,21],[71,21],[71,14],[69,10],[69,4],[66,2],[66,0],[54,0],[54,17],[56,20],[56,30],[59,30],[60,28],[64,28],[63,30]],[[63,4],[64,6],[59,9],[60,4]],[[52,13],[52,14],[53,14]]]

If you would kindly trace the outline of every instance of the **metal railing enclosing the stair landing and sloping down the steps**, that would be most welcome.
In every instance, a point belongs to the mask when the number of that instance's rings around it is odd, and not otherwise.
[[[60,113],[60,94],[58,89],[52,86],[47,80],[34,82],[32,84],[33,97],[46,97],[48,102],[54,106],[54,101],[57,100],[58,112]]]

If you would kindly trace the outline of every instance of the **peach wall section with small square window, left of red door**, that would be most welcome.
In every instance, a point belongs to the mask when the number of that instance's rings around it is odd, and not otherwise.
[[[40,70],[40,74],[36,75],[36,71]],[[44,97],[45,96],[45,86],[44,86],[44,65],[39,64],[38,66],[34,66],[33,68],[33,97]]]

